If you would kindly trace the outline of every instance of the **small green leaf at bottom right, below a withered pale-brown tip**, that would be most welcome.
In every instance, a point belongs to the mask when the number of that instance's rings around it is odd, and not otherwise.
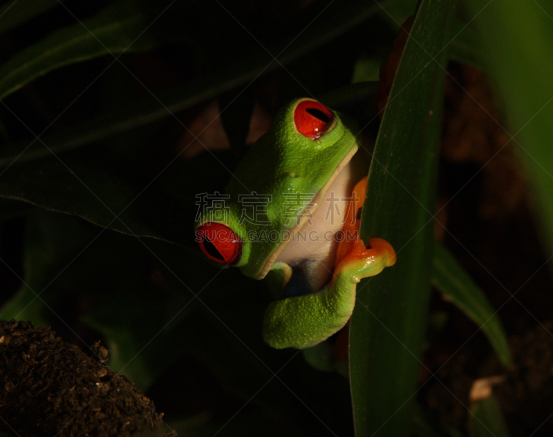
[[[505,419],[494,394],[474,402],[469,416],[469,428],[472,437],[509,437]]]

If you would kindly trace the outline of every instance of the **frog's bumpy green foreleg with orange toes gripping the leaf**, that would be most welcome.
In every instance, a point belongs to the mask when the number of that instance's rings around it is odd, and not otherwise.
[[[382,238],[361,241],[341,260],[330,284],[321,291],[272,302],[263,318],[263,338],[270,346],[303,349],[326,340],[353,313],[357,282],[395,263],[395,252]]]

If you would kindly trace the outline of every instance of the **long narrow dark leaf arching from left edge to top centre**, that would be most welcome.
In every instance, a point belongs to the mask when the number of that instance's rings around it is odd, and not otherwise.
[[[393,2],[383,1],[382,6],[386,7],[388,3]],[[185,86],[156,93],[163,106],[157,100],[147,99],[142,103],[129,104],[128,108],[119,108],[117,113],[105,113],[90,122],[73,126],[63,133],[46,134],[42,138],[54,153],[60,153],[169,117],[200,101],[214,98],[238,86],[250,84],[257,77],[279,68],[281,64],[290,64],[311,50],[319,48],[324,43],[332,41],[373,17],[379,10],[381,10],[380,6],[375,3],[363,1],[341,3],[336,10],[327,10],[317,17],[299,35],[294,35],[291,39],[270,47],[269,52],[274,56],[278,55],[278,62],[268,52],[260,49],[261,51],[252,57],[238,59],[235,64],[202,75]],[[1,89],[0,81],[0,91]],[[6,148],[6,151],[0,154],[0,166],[11,164],[21,150],[28,145],[29,142],[21,142]],[[44,150],[40,144],[33,144],[24,155],[17,159],[17,163],[48,155],[48,150]]]

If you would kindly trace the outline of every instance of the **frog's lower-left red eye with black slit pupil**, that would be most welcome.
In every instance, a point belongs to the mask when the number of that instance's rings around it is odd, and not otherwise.
[[[207,258],[220,264],[235,264],[240,258],[238,235],[222,223],[204,223],[196,229],[196,241]]]

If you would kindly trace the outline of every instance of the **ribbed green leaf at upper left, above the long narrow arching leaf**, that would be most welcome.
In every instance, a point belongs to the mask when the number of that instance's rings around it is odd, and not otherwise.
[[[58,30],[22,50],[0,66],[0,99],[56,68],[109,52],[155,47],[158,40],[151,32],[144,32],[156,17],[152,12],[144,12],[130,0],[119,0],[96,17]]]

